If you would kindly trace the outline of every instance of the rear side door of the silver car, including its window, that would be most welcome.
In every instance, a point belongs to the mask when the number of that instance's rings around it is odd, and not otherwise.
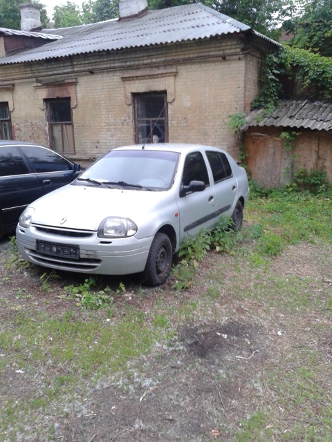
[[[234,200],[237,197],[237,179],[232,173],[230,162],[225,153],[206,151],[212,171],[215,190],[214,212],[220,218],[222,215],[232,215]]]

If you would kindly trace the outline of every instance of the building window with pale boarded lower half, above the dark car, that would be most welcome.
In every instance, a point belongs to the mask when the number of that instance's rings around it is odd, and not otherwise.
[[[59,153],[75,153],[71,99],[47,100],[50,147]]]

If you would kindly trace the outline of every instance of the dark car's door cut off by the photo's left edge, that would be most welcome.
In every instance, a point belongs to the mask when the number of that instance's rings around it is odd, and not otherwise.
[[[0,148],[0,236],[14,231],[26,206],[43,195],[17,146]]]

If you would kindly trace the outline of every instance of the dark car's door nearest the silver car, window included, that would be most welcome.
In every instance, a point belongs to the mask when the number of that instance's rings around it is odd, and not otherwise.
[[[72,182],[77,175],[72,162],[48,148],[21,146],[20,149],[40,180],[44,194]]]

